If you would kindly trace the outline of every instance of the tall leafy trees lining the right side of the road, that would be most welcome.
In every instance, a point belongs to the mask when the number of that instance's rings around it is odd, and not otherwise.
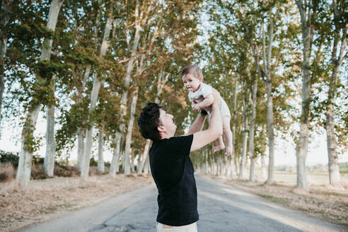
[[[225,98],[233,99],[229,103],[238,178],[245,178],[248,156],[250,181],[255,180],[255,158],[265,154],[267,134],[267,183],[274,182],[277,135],[293,138],[297,187],[308,189],[310,132],[324,128],[330,184],[340,184],[338,154],[348,145],[347,80],[340,78],[342,64],[347,71],[347,3],[214,1],[207,14],[212,26],[202,56],[210,57],[206,77]],[[296,102],[301,102],[301,112]]]

